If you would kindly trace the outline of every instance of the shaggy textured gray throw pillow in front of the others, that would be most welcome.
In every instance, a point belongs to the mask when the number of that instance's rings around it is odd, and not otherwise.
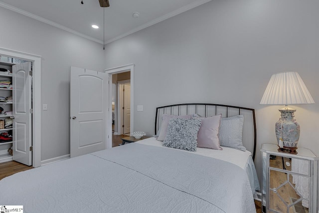
[[[170,119],[163,146],[195,152],[200,124],[200,119]]]

